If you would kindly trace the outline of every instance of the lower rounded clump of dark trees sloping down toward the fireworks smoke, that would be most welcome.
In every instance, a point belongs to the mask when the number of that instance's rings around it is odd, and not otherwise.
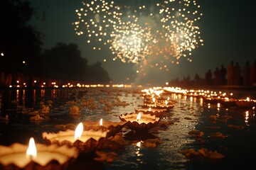
[[[97,62],[92,66],[87,65],[87,60],[81,57],[78,45],[58,43],[50,50],[43,52],[41,67],[38,72],[46,77],[85,83],[109,83],[110,77]]]

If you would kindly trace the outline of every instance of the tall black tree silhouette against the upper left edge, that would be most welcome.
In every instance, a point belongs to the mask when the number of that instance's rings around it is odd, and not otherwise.
[[[43,35],[28,25],[33,13],[28,1],[0,1],[0,53],[4,53],[0,69],[29,72],[36,67]]]

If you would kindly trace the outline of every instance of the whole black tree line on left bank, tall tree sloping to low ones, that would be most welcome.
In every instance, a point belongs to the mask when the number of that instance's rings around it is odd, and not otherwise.
[[[28,85],[33,79],[87,84],[111,81],[100,62],[87,64],[76,44],[60,42],[43,50],[44,35],[28,24],[34,14],[28,1],[0,1],[0,86],[15,84],[17,79]]]

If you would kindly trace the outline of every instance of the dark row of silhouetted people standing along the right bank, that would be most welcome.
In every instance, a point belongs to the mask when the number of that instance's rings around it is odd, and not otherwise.
[[[241,67],[238,62],[233,60],[224,67],[216,67],[212,72],[210,69],[203,78],[195,74],[194,79],[190,75],[173,79],[169,82],[171,86],[256,86],[256,60],[250,64],[249,61]]]

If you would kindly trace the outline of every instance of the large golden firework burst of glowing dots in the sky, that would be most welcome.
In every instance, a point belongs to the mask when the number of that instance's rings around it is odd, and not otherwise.
[[[203,45],[198,26],[203,13],[196,1],[94,0],[82,6],[76,10],[75,33],[97,42],[94,50],[107,45],[112,60],[139,64],[141,70],[168,71],[183,57],[192,62],[193,50]]]

